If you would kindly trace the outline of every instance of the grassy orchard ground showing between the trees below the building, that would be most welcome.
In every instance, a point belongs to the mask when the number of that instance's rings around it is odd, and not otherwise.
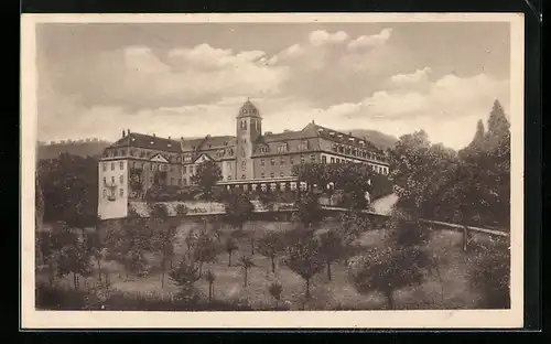
[[[184,238],[187,233],[201,224],[192,221],[182,221],[177,228],[175,252],[173,260],[177,264],[179,257],[184,251]],[[337,226],[336,223],[326,222],[320,226],[316,233]],[[249,222],[244,230],[253,234],[258,239],[269,232],[282,232],[293,228],[290,223]],[[233,229],[223,228],[223,238],[228,236]],[[382,245],[383,230],[369,230],[357,240],[358,252],[371,247]],[[480,238],[487,240],[487,238]],[[328,280],[326,271],[316,275],[311,281],[311,299],[304,302],[305,282],[301,277],[290,270],[281,261],[277,261],[276,273],[271,272],[271,264],[258,252],[252,256],[255,267],[248,272],[247,287],[244,286],[244,269],[238,266],[241,255],[249,256],[251,246],[249,238],[238,238],[238,250],[233,254],[233,265],[228,267],[228,255],[222,250],[215,262],[205,264],[203,271],[212,270],[216,275],[214,282],[214,299],[230,303],[248,304],[255,310],[269,310],[274,305],[268,286],[272,281],[279,281],[282,287],[281,301],[278,303],[289,310],[380,310],[386,308],[386,299],[376,292],[359,294],[350,284],[347,269],[342,261],[332,266],[332,280]],[[451,230],[434,230],[428,243],[430,252],[439,264],[437,273],[426,276],[424,283],[415,288],[407,288],[396,292],[397,309],[473,309],[479,300],[479,290],[472,286],[469,276],[479,261],[480,250],[464,251],[462,248],[462,234]],[[177,287],[164,277],[160,271],[160,257],[149,255],[148,261],[153,267],[145,277],[128,276],[122,267],[112,261],[101,261],[101,269],[109,273],[111,282],[110,290],[121,294],[139,298],[170,299],[177,292]],[[40,276],[39,276],[40,277]],[[97,272],[87,279],[80,279],[80,289],[94,288],[97,282]],[[73,279],[65,277],[58,281],[61,287],[71,290]],[[163,286],[162,286],[163,284]],[[195,284],[207,299],[208,282],[199,280]]]

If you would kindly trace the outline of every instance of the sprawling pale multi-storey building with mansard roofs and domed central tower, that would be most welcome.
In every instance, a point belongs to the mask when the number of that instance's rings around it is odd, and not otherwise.
[[[122,131],[122,137],[105,149],[99,162],[99,206],[101,218],[125,217],[128,202],[140,200],[155,183],[186,187],[204,161],[215,161],[222,170],[218,182],[245,190],[295,189],[292,166],[301,163],[356,162],[388,174],[380,149],[365,138],[307,123],[302,130],[262,132],[258,108],[247,100],[236,117],[236,136],[206,136],[179,140]]]

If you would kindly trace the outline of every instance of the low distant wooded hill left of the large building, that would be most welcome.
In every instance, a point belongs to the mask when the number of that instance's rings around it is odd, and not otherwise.
[[[55,143],[39,143],[39,159],[55,159],[61,153],[67,152],[71,154],[86,158],[101,155],[104,149],[111,144],[108,141],[72,141],[72,142],[55,142]]]

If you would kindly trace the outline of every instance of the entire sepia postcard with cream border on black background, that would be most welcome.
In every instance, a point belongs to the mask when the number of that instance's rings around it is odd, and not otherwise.
[[[23,15],[23,324],[522,326],[522,40],[514,13]]]

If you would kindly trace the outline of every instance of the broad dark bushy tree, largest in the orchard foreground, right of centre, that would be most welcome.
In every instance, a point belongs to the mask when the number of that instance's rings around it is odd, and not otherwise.
[[[418,286],[433,261],[424,248],[426,233],[408,214],[395,211],[382,247],[369,248],[354,265],[352,282],[359,293],[382,292],[388,308],[395,308],[395,291]]]

